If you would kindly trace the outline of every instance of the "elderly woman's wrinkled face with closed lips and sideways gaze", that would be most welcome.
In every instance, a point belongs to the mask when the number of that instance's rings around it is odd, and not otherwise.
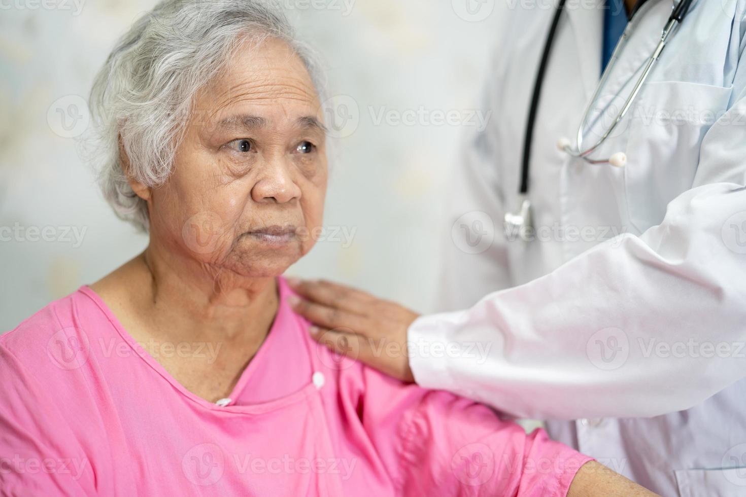
[[[327,184],[316,89],[279,40],[244,44],[195,98],[151,239],[213,270],[278,276],[313,247]]]

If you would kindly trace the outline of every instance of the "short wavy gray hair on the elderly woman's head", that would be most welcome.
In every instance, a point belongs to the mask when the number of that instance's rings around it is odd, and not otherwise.
[[[195,94],[225,68],[239,42],[268,38],[298,54],[322,99],[313,52],[272,0],[163,0],[119,39],[90,95],[101,189],[119,218],[148,231],[148,206],[122,171],[120,146],[134,179],[162,185]]]

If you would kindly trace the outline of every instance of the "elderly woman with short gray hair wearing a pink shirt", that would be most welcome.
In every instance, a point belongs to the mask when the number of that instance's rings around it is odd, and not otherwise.
[[[280,276],[322,226],[313,75],[258,0],[164,1],[113,50],[104,192],[150,243],[0,338],[0,493],[643,495],[310,338]]]

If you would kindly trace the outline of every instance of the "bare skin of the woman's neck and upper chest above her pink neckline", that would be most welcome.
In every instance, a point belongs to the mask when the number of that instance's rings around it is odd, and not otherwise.
[[[187,390],[210,402],[228,396],[275,320],[276,279],[227,277],[152,248],[90,287]]]

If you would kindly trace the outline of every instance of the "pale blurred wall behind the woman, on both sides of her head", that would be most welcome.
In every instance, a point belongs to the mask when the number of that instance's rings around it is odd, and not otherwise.
[[[289,273],[430,311],[448,173],[478,125],[503,0],[279,1],[325,61],[337,137],[330,228]],[[0,331],[147,243],[104,202],[76,138],[93,75],[154,3],[0,0]]]

